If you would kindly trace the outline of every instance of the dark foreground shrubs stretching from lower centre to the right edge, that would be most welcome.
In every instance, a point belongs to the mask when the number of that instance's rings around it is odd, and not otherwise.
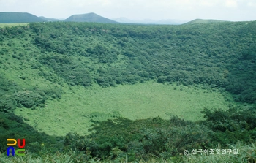
[[[92,125],[91,130],[94,132],[88,136],[67,134],[64,145],[84,153],[90,152],[91,156],[98,158],[120,159],[124,162],[128,157],[128,161],[133,162],[150,160],[152,156],[170,159],[184,150],[211,149],[217,145],[227,149],[227,143],[251,143],[255,140],[255,123],[252,121],[255,120],[256,112],[248,115],[249,110],[231,108],[227,111],[216,110],[212,114],[206,109],[204,113],[206,120],[200,122],[184,121],[177,117],[136,121],[117,118],[98,122]],[[227,117],[230,113],[232,115]],[[212,121],[213,117],[217,121]]]

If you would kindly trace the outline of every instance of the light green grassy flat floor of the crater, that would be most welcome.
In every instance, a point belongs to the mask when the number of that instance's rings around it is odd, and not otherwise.
[[[228,100],[227,100],[228,99]],[[61,99],[48,101],[45,108],[18,108],[16,115],[39,132],[65,135],[88,133],[92,121],[122,116],[132,120],[178,115],[191,121],[203,119],[204,107],[227,109],[234,102],[228,94],[200,86],[137,83],[110,88],[64,87]]]

